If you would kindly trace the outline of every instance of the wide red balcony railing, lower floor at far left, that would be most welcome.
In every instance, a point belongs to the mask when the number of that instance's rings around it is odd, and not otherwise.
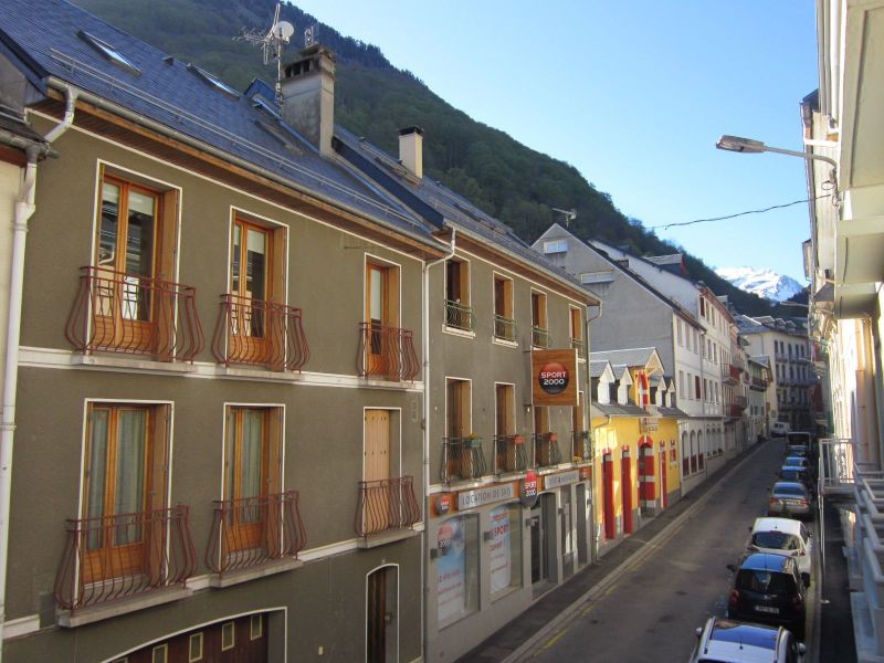
[[[180,585],[197,569],[188,507],[69,519],[55,601],[72,612]]]

